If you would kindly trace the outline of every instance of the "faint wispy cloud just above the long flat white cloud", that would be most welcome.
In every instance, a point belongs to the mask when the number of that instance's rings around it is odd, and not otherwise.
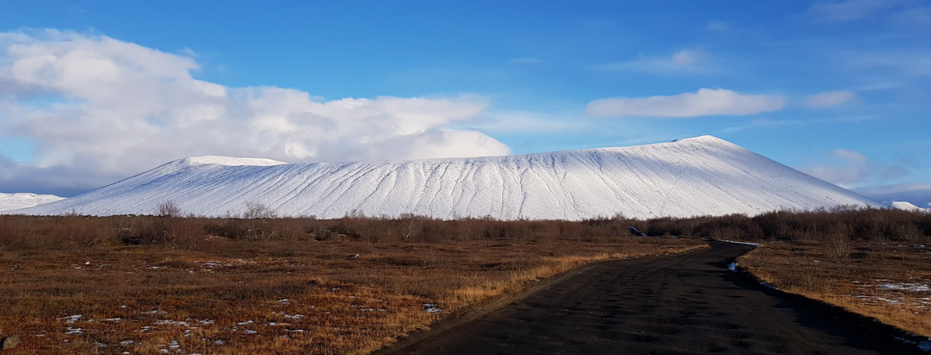
[[[711,57],[701,48],[682,49],[668,57],[640,56],[634,61],[602,64],[599,69],[649,74],[707,74],[718,71]]]

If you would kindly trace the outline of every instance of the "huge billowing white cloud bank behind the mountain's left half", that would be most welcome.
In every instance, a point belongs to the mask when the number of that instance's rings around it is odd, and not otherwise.
[[[297,89],[197,80],[196,69],[190,57],[102,35],[0,34],[0,131],[28,140],[36,157],[0,161],[0,185],[76,191],[197,155],[310,162],[510,151],[452,129],[486,110],[479,97],[322,102]]]

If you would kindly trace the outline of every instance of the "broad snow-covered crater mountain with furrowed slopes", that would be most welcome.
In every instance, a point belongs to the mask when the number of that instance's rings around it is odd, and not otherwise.
[[[415,213],[578,220],[759,213],[884,204],[711,136],[499,157],[286,164],[188,157],[74,198],[18,212],[223,215],[261,202],[280,215]]]

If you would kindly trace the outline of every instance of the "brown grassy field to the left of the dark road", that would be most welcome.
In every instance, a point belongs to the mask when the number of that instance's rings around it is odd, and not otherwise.
[[[362,354],[573,267],[704,244],[628,234],[414,217],[0,216],[0,334],[22,339],[8,354]]]

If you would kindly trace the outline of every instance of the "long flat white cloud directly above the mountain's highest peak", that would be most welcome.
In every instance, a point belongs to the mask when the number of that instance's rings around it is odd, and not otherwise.
[[[746,116],[781,110],[779,95],[749,95],[728,89],[698,89],[672,96],[613,98],[588,102],[590,116]]]

